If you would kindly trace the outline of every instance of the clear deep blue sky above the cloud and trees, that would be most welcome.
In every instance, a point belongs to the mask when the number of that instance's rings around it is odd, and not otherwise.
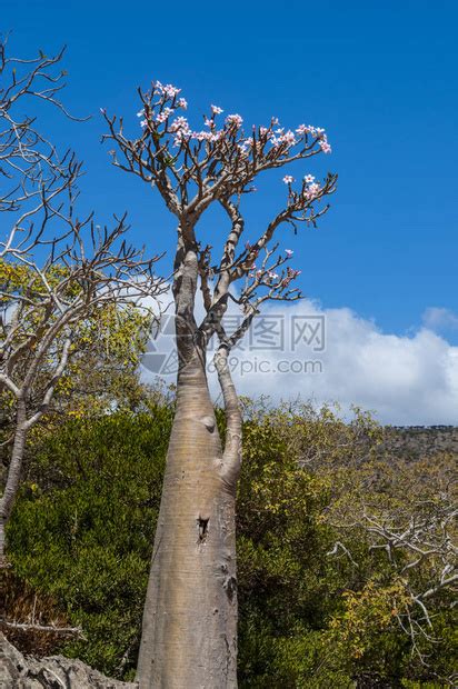
[[[160,79],[198,114],[212,102],[248,126],[275,114],[325,127],[332,156],[300,171],[337,171],[338,192],[319,230],[287,234],[285,246],[308,297],[400,337],[417,332],[428,308],[458,313],[457,26],[451,0],[28,0],[21,11],[2,0],[0,18],[22,56],[68,44],[66,103],[94,117],[76,124],[48,111],[43,124],[84,160],[83,203],[100,219],[127,209],[149,249],[171,248],[171,220],[151,190],[110,167],[100,107],[138,127],[136,87]],[[253,228],[281,204],[281,177],[250,200]],[[432,320],[458,342],[458,321]]]

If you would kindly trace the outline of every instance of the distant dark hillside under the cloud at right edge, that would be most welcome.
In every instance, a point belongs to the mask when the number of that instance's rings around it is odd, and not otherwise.
[[[456,426],[387,426],[385,448],[394,455],[419,459],[438,452],[458,455]]]

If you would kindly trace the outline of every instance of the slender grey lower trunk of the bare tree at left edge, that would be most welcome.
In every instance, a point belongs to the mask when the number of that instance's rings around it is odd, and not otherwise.
[[[23,452],[26,448],[26,403],[18,402],[16,418],[16,435],[12,446],[11,461],[8,468],[7,485],[0,498],[0,567],[6,563],[6,528],[19,490],[22,470]]]

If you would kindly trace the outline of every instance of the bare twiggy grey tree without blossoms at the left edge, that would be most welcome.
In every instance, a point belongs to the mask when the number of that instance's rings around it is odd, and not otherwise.
[[[9,224],[0,237],[0,398],[13,425],[3,441],[2,562],[28,432],[48,411],[82,323],[107,304],[150,309],[149,298],[163,291],[152,271],[157,258],[146,260],[126,242],[125,216],[111,230],[94,224],[92,213],[78,218],[74,156],[59,158],[33,118],[14,116],[28,96],[64,111],[57,98],[63,72],[50,71],[62,53],[24,61],[8,58],[6,48],[0,44],[0,217]]]

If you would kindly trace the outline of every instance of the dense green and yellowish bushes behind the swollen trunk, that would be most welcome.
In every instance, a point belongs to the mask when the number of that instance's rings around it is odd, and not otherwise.
[[[8,533],[14,575],[84,629],[86,640],[60,650],[123,678],[136,665],[172,421],[169,406],[156,400],[149,408],[72,419],[36,440]],[[440,678],[452,672],[456,642],[447,597],[430,601],[436,641],[424,642],[428,667],[397,622],[411,600],[386,553],[371,551],[359,528],[342,535],[335,525],[351,500],[358,508],[358,477],[380,509],[401,498],[392,467],[378,455],[380,429],[359,411],[348,425],[331,409],[307,406],[270,410],[246,401],[245,413],[239,686],[446,686]],[[218,420],[222,430],[221,413]],[[404,466],[404,489],[421,482],[421,471]],[[432,493],[439,473],[427,481]],[[351,559],[329,555],[337,540]]]

